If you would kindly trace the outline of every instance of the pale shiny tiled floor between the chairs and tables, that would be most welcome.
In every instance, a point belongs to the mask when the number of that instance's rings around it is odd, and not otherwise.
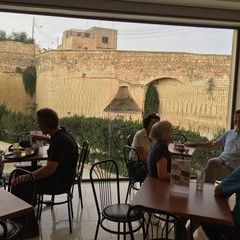
[[[121,182],[121,195],[124,199],[126,194],[127,182]],[[73,233],[69,234],[67,205],[55,206],[53,211],[48,208],[43,209],[42,219],[40,222],[40,237],[34,240],[92,240],[96,229],[97,213],[92,189],[89,183],[83,183],[83,201],[84,208],[81,209],[78,198],[77,188],[74,191],[73,209],[74,222]],[[122,199],[122,200],[123,200]],[[103,230],[99,230],[98,240],[114,240],[115,235],[111,235]],[[129,238],[128,238],[129,239]],[[195,234],[197,240],[205,240],[202,231]]]

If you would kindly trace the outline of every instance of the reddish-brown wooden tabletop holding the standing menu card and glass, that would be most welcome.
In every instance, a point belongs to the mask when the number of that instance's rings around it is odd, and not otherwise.
[[[214,196],[213,184],[204,184],[203,191],[196,191],[196,182],[190,183],[189,194],[171,191],[168,181],[147,177],[134,196],[132,204],[165,210],[179,216],[223,225],[233,225],[228,201]]]

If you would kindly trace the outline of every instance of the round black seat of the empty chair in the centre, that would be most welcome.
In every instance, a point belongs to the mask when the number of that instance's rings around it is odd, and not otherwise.
[[[127,222],[127,213],[129,208],[131,207],[130,204],[113,204],[111,206],[107,206],[103,209],[102,214],[103,216],[111,221],[115,222]],[[141,215],[136,213],[131,213],[130,220],[136,221],[141,217]]]

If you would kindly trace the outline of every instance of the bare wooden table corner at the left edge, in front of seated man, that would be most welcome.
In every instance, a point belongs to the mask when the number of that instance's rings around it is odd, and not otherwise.
[[[0,188],[0,219],[14,219],[29,213],[33,207]]]

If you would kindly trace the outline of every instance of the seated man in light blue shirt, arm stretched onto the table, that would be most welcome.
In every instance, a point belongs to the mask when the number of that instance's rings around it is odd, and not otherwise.
[[[222,180],[240,164],[240,110],[234,113],[234,124],[235,129],[227,131],[218,140],[203,143],[185,143],[189,147],[224,147],[220,156],[208,160],[205,168],[206,183]]]

